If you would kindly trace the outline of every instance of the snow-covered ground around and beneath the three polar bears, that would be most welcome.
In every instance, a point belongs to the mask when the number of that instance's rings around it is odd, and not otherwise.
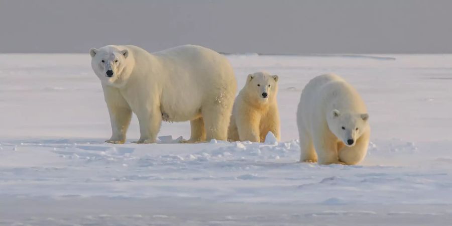
[[[452,220],[452,55],[230,55],[278,74],[282,142],[159,144],[110,136],[88,54],[0,54],[0,225],[445,225]],[[360,91],[359,166],[298,163],[296,106],[316,75]],[[189,93],[187,93],[189,95]],[[133,119],[128,140],[139,138]]]

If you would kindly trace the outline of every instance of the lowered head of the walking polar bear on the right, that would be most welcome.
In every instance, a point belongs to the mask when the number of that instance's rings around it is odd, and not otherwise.
[[[328,115],[327,123],[329,130],[337,139],[349,147],[356,144],[358,138],[361,137],[369,126],[369,114],[367,113],[340,112],[334,109]]]

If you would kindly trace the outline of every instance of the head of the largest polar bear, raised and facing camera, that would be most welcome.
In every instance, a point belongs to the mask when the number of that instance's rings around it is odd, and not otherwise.
[[[91,67],[102,83],[116,87],[126,84],[133,68],[129,50],[109,45],[91,48],[89,54]]]

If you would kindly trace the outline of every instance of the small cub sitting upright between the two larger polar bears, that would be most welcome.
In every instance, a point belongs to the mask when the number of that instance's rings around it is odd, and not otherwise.
[[[228,140],[264,142],[268,132],[272,132],[279,141],[277,93],[278,75],[267,72],[248,75],[245,87],[234,102]]]

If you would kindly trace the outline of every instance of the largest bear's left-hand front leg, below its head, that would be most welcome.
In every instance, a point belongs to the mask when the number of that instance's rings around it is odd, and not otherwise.
[[[106,143],[124,144],[126,133],[132,119],[132,110],[118,88],[104,85],[103,94],[110,115],[111,137]]]

